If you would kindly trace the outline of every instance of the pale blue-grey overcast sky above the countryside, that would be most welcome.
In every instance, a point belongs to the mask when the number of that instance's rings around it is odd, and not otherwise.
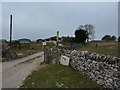
[[[9,40],[13,15],[13,39],[37,40],[55,36],[74,37],[80,25],[92,24],[95,39],[118,36],[117,2],[3,2],[2,38]]]

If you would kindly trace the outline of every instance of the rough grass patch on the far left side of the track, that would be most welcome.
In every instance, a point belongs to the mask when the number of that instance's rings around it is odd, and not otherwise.
[[[26,56],[29,56],[29,55],[32,55],[34,53],[41,52],[41,51],[42,51],[41,44],[31,44],[30,48],[24,47],[24,48],[19,49],[18,47],[17,48],[15,47],[13,48],[13,52],[15,52],[17,56],[2,58],[2,62],[23,58],[23,57],[26,57]]]

